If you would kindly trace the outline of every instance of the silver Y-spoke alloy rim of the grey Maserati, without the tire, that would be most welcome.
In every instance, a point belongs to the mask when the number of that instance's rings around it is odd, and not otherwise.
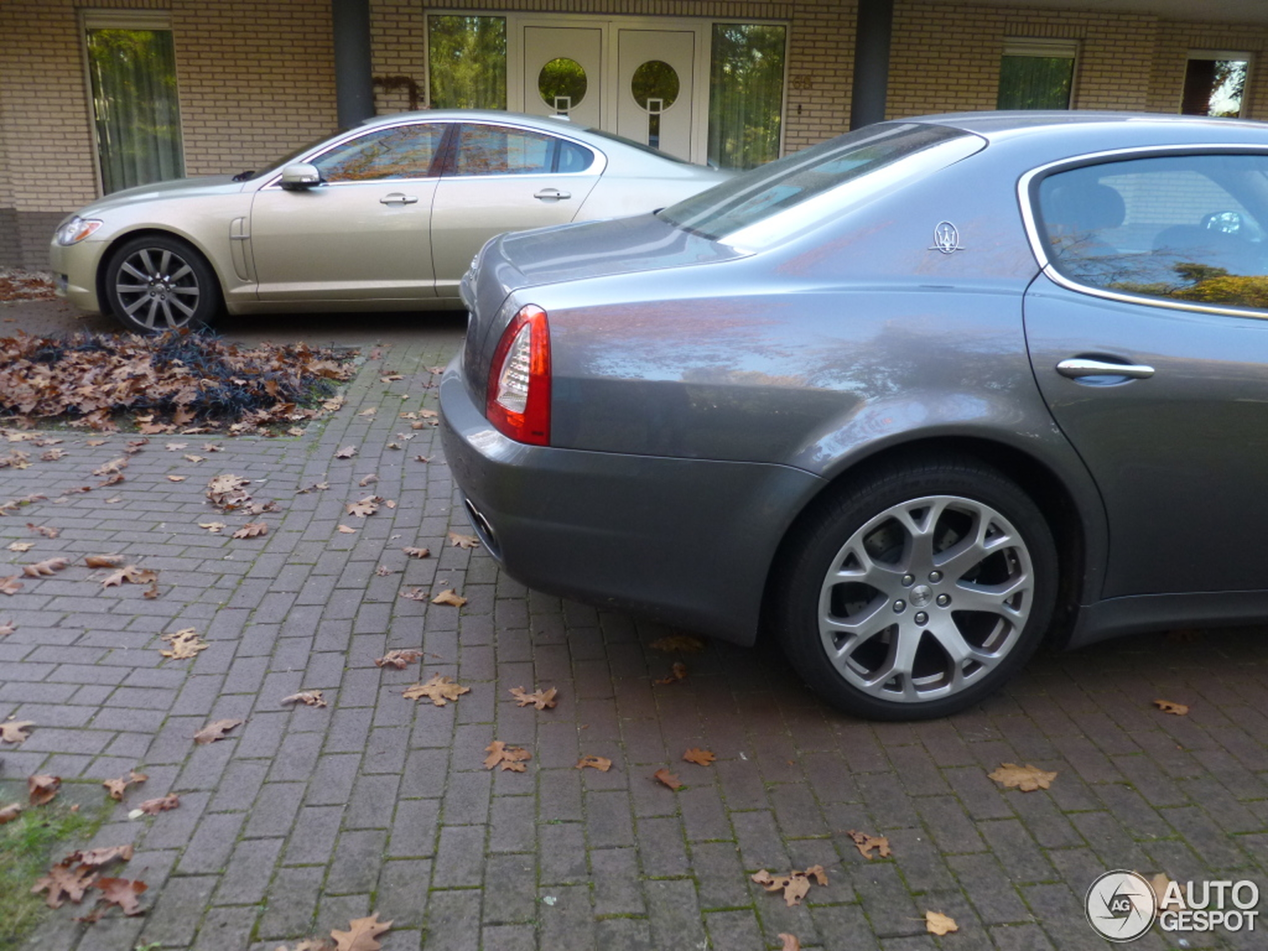
[[[883,700],[923,702],[985,677],[1030,616],[1035,572],[1019,533],[960,496],[893,505],[841,547],[819,593],[823,649]]]

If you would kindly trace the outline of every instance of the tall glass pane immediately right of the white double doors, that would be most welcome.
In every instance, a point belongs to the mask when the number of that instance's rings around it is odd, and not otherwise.
[[[752,169],[780,155],[786,28],[715,23],[709,90],[709,160]]]

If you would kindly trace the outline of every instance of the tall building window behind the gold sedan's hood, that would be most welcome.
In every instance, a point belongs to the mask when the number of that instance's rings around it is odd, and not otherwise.
[[[166,15],[85,15],[93,123],[105,194],[185,174],[176,51]]]

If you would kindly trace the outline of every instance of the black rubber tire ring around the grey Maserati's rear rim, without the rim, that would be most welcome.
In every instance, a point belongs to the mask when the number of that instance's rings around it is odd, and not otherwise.
[[[959,496],[997,510],[1019,534],[1031,559],[1035,587],[1030,614],[1008,656],[981,681],[926,702],[886,701],[851,685],[832,664],[819,633],[819,596],[841,547],[876,515],[926,496]],[[895,468],[834,492],[808,514],[786,552],[789,568],[779,590],[776,633],[792,666],[833,706],[877,720],[945,716],[998,690],[1035,653],[1051,624],[1059,564],[1051,529],[1035,502],[998,470],[976,462]]]

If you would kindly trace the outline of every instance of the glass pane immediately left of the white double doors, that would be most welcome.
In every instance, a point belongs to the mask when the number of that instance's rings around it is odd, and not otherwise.
[[[506,108],[506,18],[427,18],[434,109]]]

